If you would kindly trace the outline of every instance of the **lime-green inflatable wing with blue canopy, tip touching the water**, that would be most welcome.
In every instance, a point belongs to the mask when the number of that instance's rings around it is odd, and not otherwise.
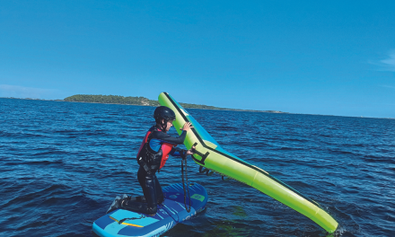
[[[329,233],[336,231],[338,222],[323,210],[320,204],[303,196],[281,180],[277,180],[267,171],[226,152],[170,94],[162,92],[159,95],[159,102],[175,112],[177,119],[173,124],[179,134],[181,133],[180,127],[185,122],[190,122],[193,125],[192,132],[187,134],[184,145],[188,149],[193,145],[196,146],[197,153],[193,155],[193,159],[199,165],[258,189],[269,197],[275,198],[277,201],[309,217]]]

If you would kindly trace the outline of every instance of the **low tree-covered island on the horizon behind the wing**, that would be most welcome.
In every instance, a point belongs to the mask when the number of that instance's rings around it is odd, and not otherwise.
[[[109,104],[127,104],[141,106],[160,106],[159,101],[149,100],[145,97],[120,96],[120,95],[101,95],[101,94],[75,94],[66,97],[63,101],[70,102],[88,102],[88,103],[109,103]],[[229,108],[219,108],[210,105],[180,103],[186,109],[202,109],[202,110],[233,110],[233,111],[251,111],[251,112],[267,112],[267,113],[285,113],[276,110],[239,110]]]

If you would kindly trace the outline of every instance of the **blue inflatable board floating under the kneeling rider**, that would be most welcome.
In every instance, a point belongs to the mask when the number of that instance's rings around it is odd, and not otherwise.
[[[117,209],[96,220],[93,223],[93,232],[101,237],[159,236],[174,225],[197,215],[206,207],[207,192],[198,183],[189,182],[190,212],[185,209],[182,183],[167,186],[162,190],[165,200],[162,205],[158,205],[156,215],[148,216]]]

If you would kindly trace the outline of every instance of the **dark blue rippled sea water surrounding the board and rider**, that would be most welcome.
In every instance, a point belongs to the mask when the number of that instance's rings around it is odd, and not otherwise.
[[[142,195],[135,157],[153,112],[0,99],[0,236],[93,236],[117,195]],[[339,223],[334,236],[395,236],[395,119],[189,113],[226,151],[319,202]],[[207,190],[206,211],[164,236],[326,236],[256,189],[200,174],[192,159],[188,171]],[[158,179],[181,182],[180,159]]]

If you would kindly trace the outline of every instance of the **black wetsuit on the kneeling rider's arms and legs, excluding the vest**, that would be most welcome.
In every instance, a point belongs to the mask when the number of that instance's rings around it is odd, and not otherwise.
[[[187,136],[187,131],[183,131],[178,137],[170,136],[161,130],[158,130],[156,126],[151,127],[149,131],[151,131],[149,146],[155,152],[158,152],[159,149],[161,149],[163,143],[181,145],[184,143],[185,137]],[[172,156],[180,156],[185,153],[180,149],[173,147],[169,154]],[[143,189],[145,202],[129,198],[123,201],[121,205],[122,208],[147,215],[154,215],[156,213],[156,205],[161,204],[164,200],[162,187],[155,175],[156,171],[158,170],[154,169],[147,172],[142,166],[140,166],[137,171],[137,180]]]

